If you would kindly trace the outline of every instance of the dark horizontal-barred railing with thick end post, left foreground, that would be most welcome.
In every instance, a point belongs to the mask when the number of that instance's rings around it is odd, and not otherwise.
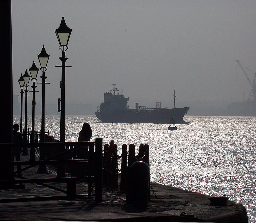
[[[94,150],[95,146],[95,150]],[[26,197],[26,198],[12,198],[12,199],[0,199],[2,202],[24,202],[24,201],[35,201],[35,200],[56,200],[56,199],[76,199],[76,198],[91,198],[94,196],[95,202],[102,202],[102,138],[96,138],[93,142],[45,142],[45,143],[0,143],[0,149],[11,149],[15,147],[44,147],[44,148],[59,148],[65,147],[64,152],[52,155],[51,157],[41,160],[41,161],[20,161],[20,162],[0,162],[0,169],[10,168],[14,165],[25,165],[21,171],[24,173],[25,170],[32,168],[36,165],[66,165],[69,167],[68,172],[71,171],[71,176],[68,177],[56,177],[56,178],[36,178],[28,179],[25,176],[17,175],[18,171],[9,172],[0,177],[0,185],[7,186],[14,184],[26,184],[26,183],[36,183],[39,185],[46,186],[57,191],[66,193],[66,195],[61,196],[42,196],[42,197]],[[77,156],[78,150],[88,149],[87,157],[79,158]],[[62,150],[63,151],[63,150]],[[58,157],[66,156],[65,159],[58,159]],[[86,168],[86,174],[82,174],[76,171],[77,166],[83,165]],[[36,173],[35,173],[36,174]],[[18,177],[18,180],[14,179]],[[76,194],[76,183],[77,182],[87,182],[88,183],[88,194]],[[66,183],[66,190],[57,188],[52,185],[47,185],[45,183],[49,182],[59,182]],[[92,193],[92,185],[95,185],[94,191]]]

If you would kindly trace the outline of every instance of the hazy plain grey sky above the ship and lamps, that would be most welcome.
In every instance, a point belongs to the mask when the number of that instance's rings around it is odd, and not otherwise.
[[[250,85],[237,62],[256,71],[256,1],[12,1],[13,93],[45,45],[46,103],[61,90],[55,29],[72,29],[66,56],[66,103],[103,102],[111,84],[134,103],[242,101]],[[39,76],[37,82],[41,82]],[[248,72],[253,81],[253,74]],[[30,82],[32,83],[32,82]],[[32,88],[29,86],[29,90]],[[41,84],[37,84],[37,104]],[[30,96],[31,97],[31,96]],[[30,101],[30,99],[29,99]],[[96,110],[96,108],[95,108]]]

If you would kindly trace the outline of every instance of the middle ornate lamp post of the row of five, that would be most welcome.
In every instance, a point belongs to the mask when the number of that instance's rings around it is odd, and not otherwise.
[[[31,75],[31,81],[33,82],[32,87],[32,129],[31,129],[31,142],[34,143],[35,142],[35,104],[36,104],[36,100],[35,100],[35,89],[36,89],[36,77],[38,74],[38,68],[36,67],[35,61],[33,61],[33,64],[31,66],[31,68],[28,69]],[[38,92],[38,91],[37,91]],[[29,161],[35,161],[36,157],[35,157],[35,147],[30,147],[30,155],[29,155]]]

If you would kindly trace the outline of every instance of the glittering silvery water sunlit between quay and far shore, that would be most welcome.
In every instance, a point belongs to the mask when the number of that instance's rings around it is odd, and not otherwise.
[[[255,132],[256,117],[185,116],[187,125],[177,131],[168,124],[105,124],[94,115],[67,115],[66,141],[77,141],[84,122],[89,122],[93,136],[103,144],[115,140],[122,144],[140,143],[150,147],[150,179],[207,195],[228,196],[243,204],[250,222],[256,222]],[[41,118],[36,117],[36,130]],[[59,138],[60,117],[47,115],[46,131]],[[19,116],[14,116],[19,124]],[[28,128],[31,120],[28,118]],[[24,124],[23,124],[24,126]]]

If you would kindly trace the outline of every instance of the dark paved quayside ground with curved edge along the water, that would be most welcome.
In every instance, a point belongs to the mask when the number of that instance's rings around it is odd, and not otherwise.
[[[22,156],[22,161],[29,156]],[[25,177],[54,177],[55,173],[35,174],[37,167],[23,172]],[[55,183],[60,185],[61,183]],[[133,210],[125,204],[125,193],[103,187],[103,202],[94,199],[51,200],[34,202],[0,203],[0,219],[4,221],[157,221],[157,222],[248,222],[243,205],[228,200],[227,206],[210,205],[210,196],[151,183],[147,211]],[[65,188],[65,184],[63,184]],[[86,188],[83,184],[77,190]],[[26,184],[25,189],[0,190],[0,199],[24,196],[43,196],[62,192],[36,184]],[[182,212],[194,217],[180,216]]]

